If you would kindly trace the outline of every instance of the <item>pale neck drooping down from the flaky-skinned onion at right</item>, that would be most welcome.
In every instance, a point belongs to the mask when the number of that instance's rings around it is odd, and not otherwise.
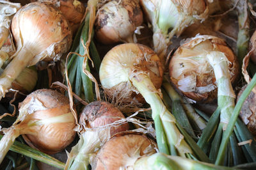
[[[225,124],[223,125],[223,130],[225,130],[232,116],[236,98],[230,82],[228,59],[223,52],[217,51],[209,52],[206,57],[214,70],[218,83],[218,106],[221,108],[220,122]]]

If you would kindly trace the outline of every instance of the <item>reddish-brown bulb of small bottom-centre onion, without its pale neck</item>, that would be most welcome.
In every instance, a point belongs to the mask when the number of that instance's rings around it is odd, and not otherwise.
[[[91,102],[84,107],[79,118],[80,125],[86,125],[87,128],[99,128],[113,123],[114,121],[125,118],[114,105],[108,102]],[[111,126],[109,135],[129,130],[128,123],[118,126]]]

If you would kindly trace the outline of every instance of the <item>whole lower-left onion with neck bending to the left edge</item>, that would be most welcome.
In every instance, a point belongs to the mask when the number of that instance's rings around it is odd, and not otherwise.
[[[73,141],[75,126],[68,98],[51,89],[38,89],[20,103],[19,116],[12,127],[3,129],[0,162],[20,134],[32,148],[58,153]]]

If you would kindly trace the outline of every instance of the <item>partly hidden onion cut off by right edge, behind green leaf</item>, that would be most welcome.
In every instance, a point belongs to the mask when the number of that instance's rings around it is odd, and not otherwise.
[[[241,97],[246,86],[239,91],[237,95],[237,101]],[[244,124],[247,125],[248,129],[252,132],[252,134],[256,135],[256,95],[253,91],[251,91],[250,95],[244,101],[244,104],[241,108],[239,114],[241,120],[243,120]]]

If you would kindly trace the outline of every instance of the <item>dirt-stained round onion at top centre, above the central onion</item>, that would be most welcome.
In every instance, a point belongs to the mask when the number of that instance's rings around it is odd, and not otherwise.
[[[139,0],[109,1],[97,12],[95,33],[104,44],[134,42],[134,31],[141,26],[143,13]]]

